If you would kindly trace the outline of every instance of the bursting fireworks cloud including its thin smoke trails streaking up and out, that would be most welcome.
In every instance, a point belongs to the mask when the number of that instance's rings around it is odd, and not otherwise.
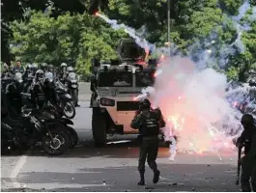
[[[221,57],[217,61],[219,67],[225,67],[228,63],[228,56],[234,55],[235,50],[244,51],[242,44],[242,32],[250,30],[249,25],[241,25],[242,16],[250,9],[246,0],[237,16],[232,20],[237,30],[237,40],[221,49]],[[252,7],[250,20],[256,19],[256,8]],[[136,43],[157,53],[167,53],[169,49],[156,48],[152,43],[141,39],[134,29],[118,24],[116,20],[111,20],[105,15],[96,15],[104,19],[114,29],[125,29],[128,35]],[[201,49],[201,44],[207,43],[207,50]],[[234,148],[232,138],[238,136],[242,131],[240,119],[244,102],[251,109],[255,109],[254,100],[249,97],[250,88],[248,86],[237,86],[232,88],[227,82],[224,74],[211,69],[208,64],[216,61],[214,58],[214,48],[211,44],[214,40],[196,42],[191,46],[190,57],[175,56],[171,58],[161,57],[161,63],[156,70],[156,83],[154,88],[149,87],[142,91],[142,95],[134,99],[147,97],[153,106],[159,107],[166,120],[166,127],[163,128],[166,141],[172,141],[170,146],[171,157],[174,159],[177,149],[179,151],[207,152]],[[195,48],[196,47],[196,48]],[[177,51],[175,45],[171,46],[173,51]],[[167,54],[169,55],[169,54]],[[190,58],[197,56],[200,60],[196,63]],[[178,137],[177,147],[176,140]],[[221,157],[220,157],[221,159]]]

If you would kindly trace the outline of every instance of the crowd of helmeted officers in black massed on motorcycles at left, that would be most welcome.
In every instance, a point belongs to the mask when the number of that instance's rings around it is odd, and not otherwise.
[[[24,69],[21,66],[21,62],[16,61],[13,68],[4,64],[3,71],[1,72],[3,84],[1,109],[4,112],[9,111],[11,115],[15,115],[20,113],[22,106],[21,99],[16,99],[21,97],[20,93],[30,93],[32,104],[36,108],[43,106],[41,101],[44,99],[56,103],[58,96],[55,89],[55,80],[59,79],[65,84],[69,73],[73,72],[73,68],[68,67],[66,63],[62,63],[57,71],[53,65],[43,63],[39,67],[35,64],[28,64]],[[13,81],[5,85],[3,80],[9,78]],[[77,101],[75,106],[79,106]]]

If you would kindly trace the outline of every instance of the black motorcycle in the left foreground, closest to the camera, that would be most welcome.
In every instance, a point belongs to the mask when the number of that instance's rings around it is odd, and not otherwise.
[[[3,124],[9,125],[9,130],[4,131],[7,133],[6,136],[9,136],[5,144],[8,144],[8,147],[24,149],[42,142],[43,150],[48,154],[58,155],[67,152],[71,140],[65,131],[65,125],[50,116],[45,112],[32,110],[21,117],[8,117],[2,120]]]

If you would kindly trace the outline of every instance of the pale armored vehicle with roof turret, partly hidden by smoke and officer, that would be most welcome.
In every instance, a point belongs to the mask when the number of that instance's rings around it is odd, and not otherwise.
[[[146,62],[144,49],[134,40],[121,40],[118,54],[117,61],[92,61],[92,129],[97,147],[106,145],[107,134],[138,133],[130,128],[139,108],[134,98],[155,81],[156,60]]]

